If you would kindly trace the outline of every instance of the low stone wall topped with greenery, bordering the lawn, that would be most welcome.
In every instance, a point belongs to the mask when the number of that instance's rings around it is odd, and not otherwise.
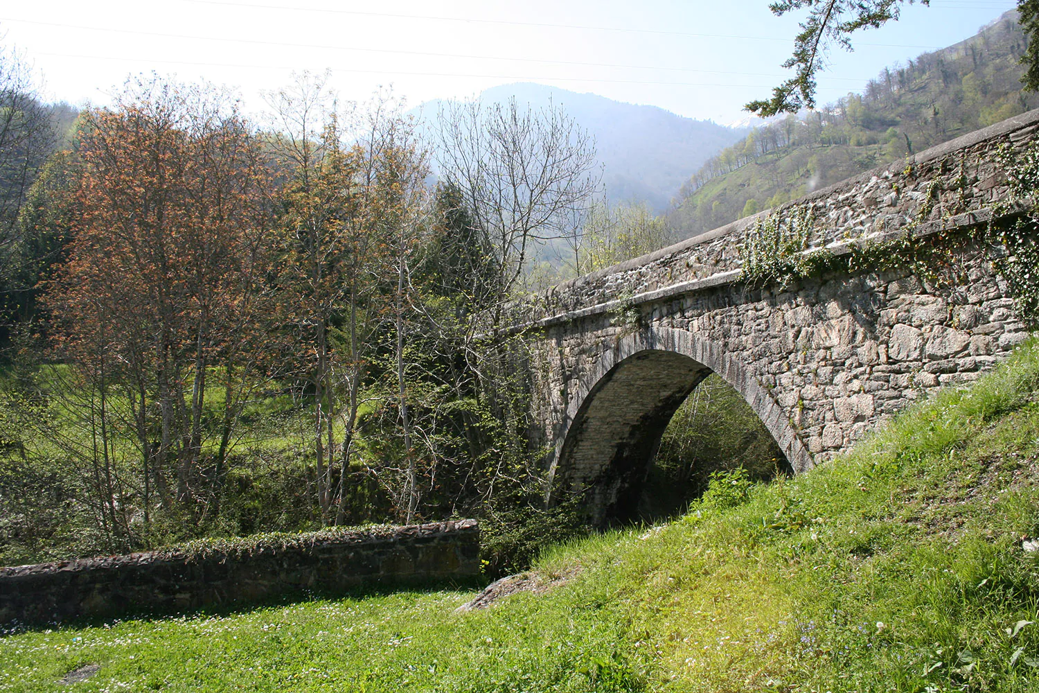
[[[328,530],[0,568],[0,623],[172,613],[286,593],[468,580],[475,519]]]

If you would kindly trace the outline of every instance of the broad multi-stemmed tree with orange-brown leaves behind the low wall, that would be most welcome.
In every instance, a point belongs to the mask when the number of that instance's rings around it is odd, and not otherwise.
[[[96,393],[101,443],[86,448],[111,465],[126,435],[145,518],[154,492],[201,521],[266,372],[263,148],[225,94],[155,78],[87,112],[78,154],[76,235],[45,304],[59,352]]]

